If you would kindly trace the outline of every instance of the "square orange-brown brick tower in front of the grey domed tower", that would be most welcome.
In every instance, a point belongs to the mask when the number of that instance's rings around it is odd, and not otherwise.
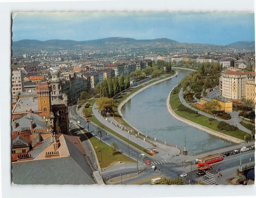
[[[37,82],[36,92],[38,99],[38,110],[42,112],[40,115],[49,117],[52,111],[50,83],[48,81]]]

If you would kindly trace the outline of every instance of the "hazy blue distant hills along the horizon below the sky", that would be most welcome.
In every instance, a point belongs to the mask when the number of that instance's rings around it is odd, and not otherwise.
[[[254,51],[253,41],[239,41],[229,45],[210,45],[200,43],[180,43],[175,40],[160,38],[152,40],[136,40],[132,38],[111,37],[97,40],[75,41],[75,40],[19,40],[12,42],[13,53],[41,52],[41,50],[109,50],[131,49],[136,51],[170,52],[180,49],[188,50],[226,50],[230,48],[245,48]]]

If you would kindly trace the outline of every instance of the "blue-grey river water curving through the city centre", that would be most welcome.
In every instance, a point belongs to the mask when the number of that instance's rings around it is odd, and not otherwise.
[[[130,99],[121,109],[125,120],[143,134],[178,145],[183,151],[185,144],[188,153],[210,150],[230,142],[212,136],[197,128],[176,120],[168,112],[168,94],[190,70],[175,69],[177,77],[152,85]]]

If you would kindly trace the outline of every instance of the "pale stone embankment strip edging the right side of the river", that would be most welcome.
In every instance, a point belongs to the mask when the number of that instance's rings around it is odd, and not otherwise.
[[[174,89],[175,89],[175,87],[171,90],[171,92],[172,92]],[[171,107],[171,105],[170,105],[171,92],[169,93],[168,98],[167,98],[167,100],[166,100],[166,105],[167,105],[167,108],[168,108],[169,113],[170,113],[175,119],[177,119],[177,120],[179,120],[179,121],[182,121],[182,122],[188,124],[189,126],[192,126],[192,127],[198,128],[198,129],[200,129],[200,130],[202,130],[202,131],[205,131],[205,132],[207,132],[207,133],[209,133],[209,134],[211,134],[211,135],[213,135],[213,136],[219,137],[219,138],[221,138],[221,139],[224,139],[224,140],[227,140],[227,141],[231,141],[231,142],[233,142],[233,143],[242,143],[242,142],[244,142],[244,141],[241,140],[241,139],[238,139],[238,138],[233,137],[233,136],[229,136],[229,135],[227,135],[227,134],[223,134],[223,133],[221,133],[221,132],[218,132],[218,131],[213,130],[213,129],[211,129],[211,128],[207,128],[207,127],[205,127],[205,126],[202,126],[202,125],[200,125],[200,124],[197,124],[197,123],[195,123],[195,122],[193,122],[193,121],[190,121],[190,120],[188,120],[188,119],[185,119],[185,118],[183,118],[183,117],[177,115],[177,114],[174,112],[175,109],[173,110],[172,107]],[[177,96],[177,100],[178,100],[179,97],[178,97],[177,94],[172,95],[172,97],[176,97],[176,96]],[[172,101],[172,102],[173,102],[173,101]],[[177,106],[176,106],[176,107],[177,107]]]

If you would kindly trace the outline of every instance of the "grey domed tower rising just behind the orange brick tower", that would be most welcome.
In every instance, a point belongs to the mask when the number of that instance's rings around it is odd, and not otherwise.
[[[61,92],[61,80],[60,74],[58,70],[53,70],[52,72],[52,100],[58,101],[62,100],[62,92]]]

